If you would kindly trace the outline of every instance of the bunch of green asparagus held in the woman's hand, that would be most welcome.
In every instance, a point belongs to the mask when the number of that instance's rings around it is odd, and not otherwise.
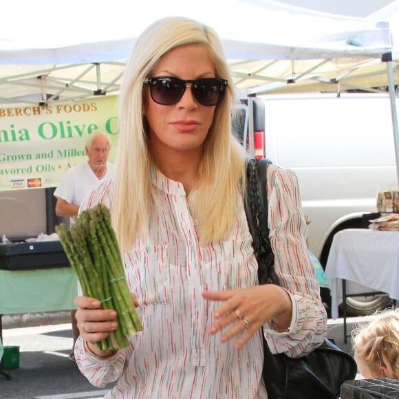
[[[56,233],[81,285],[83,295],[101,301],[102,309],[118,313],[118,328],[97,343],[99,349],[122,349],[127,335],[142,330],[142,324],[125,279],[125,270],[109,210],[104,204],[87,209],[67,228],[61,223]]]

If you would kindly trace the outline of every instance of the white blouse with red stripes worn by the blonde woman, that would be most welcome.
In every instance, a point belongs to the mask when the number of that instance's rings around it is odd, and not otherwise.
[[[220,303],[202,298],[204,290],[258,283],[241,195],[228,239],[202,244],[182,184],[155,169],[153,184],[156,201],[149,233],[123,254],[144,330],[129,337],[129,347],[105,360],[85,352],[80,338],[75,349],[80,371],[96,387],[112,382],[105,398],[267,398],[261,378],[261,330],[238,350],[235,339],[221,343],[220,334],[208,334]],[[111,207],[111,185],[96,186],[81,208],[98,202]],[[293,316],[289,333],[277,333],[268,325],[263,332],[272,352],[298,356],[323,341],[327,318],[305,244],[308,228],[292,171],[269,166],[268,201],[274,267],[290,292]]]

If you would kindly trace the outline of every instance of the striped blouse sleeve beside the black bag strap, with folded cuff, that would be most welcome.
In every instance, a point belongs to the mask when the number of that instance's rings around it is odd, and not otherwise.
[[[291,296],[292,323],[288,333],[277,333],[267,325],[265,336],[272,353],[301,356],[323,342],[327,315],[306,244],[308,226],[295,173],[270,165],[267,189],[274,268]]]

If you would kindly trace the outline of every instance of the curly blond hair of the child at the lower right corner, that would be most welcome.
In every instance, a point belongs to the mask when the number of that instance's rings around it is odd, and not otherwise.
[[[352,332],[352,345],[354,357],[363,360],[375,378],[399,378],[399,310],[379,312],[360,325]]]

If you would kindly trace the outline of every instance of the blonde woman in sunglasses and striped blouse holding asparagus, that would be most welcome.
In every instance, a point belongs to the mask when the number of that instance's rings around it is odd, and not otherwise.
[[[82,206],[109,206],[144,326],[126,349],[100,351],[116,314],[75,299],[78,367],[97,387],[117,381],[107,398],[266,398],[261,334],[288,356],[323,341],[296,176],[274,166],[269,226],[282,287],[258,284],[235,101],[208,26],[166,18],[136,41],[121,85],[116,178]]]

